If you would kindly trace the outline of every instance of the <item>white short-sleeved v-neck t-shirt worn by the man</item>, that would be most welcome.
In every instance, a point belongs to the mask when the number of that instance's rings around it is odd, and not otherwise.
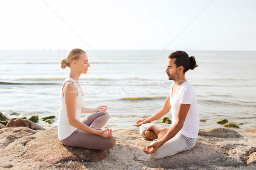
[[[190,108],[186,115],[183,127],[179,131],[188,138],[197,138],[199,130],[199,112],[196,100],[196,94],[193,86],[189,82],[184,82],[182,85],[178,86],[175,93],[172,96],[172,83],[169,95],[170,104],[172,111],[172,125],[177,119],[177,111],[180,104],[189,104]]]

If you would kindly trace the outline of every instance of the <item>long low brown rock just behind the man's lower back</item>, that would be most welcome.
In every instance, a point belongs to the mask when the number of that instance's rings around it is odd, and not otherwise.
[[[237,138],[238,133],[235,130],[230,130],[222,127],[213,127],[206,130],[199,130],[198,135],[215,136],[219,138]]]

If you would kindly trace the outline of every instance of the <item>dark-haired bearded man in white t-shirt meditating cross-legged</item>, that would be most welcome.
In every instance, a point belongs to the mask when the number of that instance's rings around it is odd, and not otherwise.
[[[169,55],[166,73],[173,80],[163,108],[149,118],[140,119],[134,126],[140,126],[140,134],[153,140],[143,147],[154,159],[172,156],[195,146],[199,130],[199,113],[193,86],[186,80],[185,73],[194,69],[195,58],[184,51]],[[172,111],[172,124],[149,123]]]

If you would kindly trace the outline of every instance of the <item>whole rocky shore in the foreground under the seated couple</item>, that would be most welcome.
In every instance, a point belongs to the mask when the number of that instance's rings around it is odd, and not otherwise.
[[[1,125],[1,124],[0,124]],[[138,130],[115,130],[115,147],[87,150],[64,146],[58,127],[45,130],[13,118],[0,127],[0,169],[9,170],[255,170],[256,129],[200,130],[192,150],[164,159],[151,159],[142,147],[150,143]]]

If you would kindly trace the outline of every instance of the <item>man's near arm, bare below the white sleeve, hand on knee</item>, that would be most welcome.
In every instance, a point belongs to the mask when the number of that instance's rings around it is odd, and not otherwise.
[[[147,154],[154,153],[165,142],[172,139],[183,127],[189,108],[190,108],[189,104],[180,104],[177,111],[177,119],[174,125],[172,125],[172,128],[170,128],[168,132],[159,141],[154,142],[153,144],[147,147],[143,147],[143,151]]]

